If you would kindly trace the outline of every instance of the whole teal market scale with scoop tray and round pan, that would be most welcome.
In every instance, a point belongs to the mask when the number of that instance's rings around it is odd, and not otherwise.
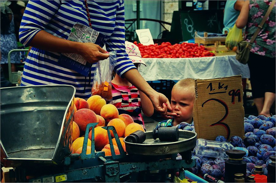
[[[17,182],[173,182],[175,172],[183,179],[183,168],[195,166],[191,151],[196,133],[184,130],[180,130],[177,142],[154,140],[151,131],[146,132],[142,144],[124,139],[126,154],[115,128],[103,127],[112,154],[105,156],[94,151],[96,123],[90,123],[83,153],[71,154],[74,94],[75,88],[69,85],[1,89],[1,163],[14,167],[10,175]],[[91,154],[86,155],[89,128]],[[115,155],[109,130],[115,135],[120,155]],[[182,160],[176,159],[177,153]]]

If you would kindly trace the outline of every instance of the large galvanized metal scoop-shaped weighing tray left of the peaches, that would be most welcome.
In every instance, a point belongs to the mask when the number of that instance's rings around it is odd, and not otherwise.
[[[70,85],[1,88],[1,163],[60,164],[71,154],[76,89]]]

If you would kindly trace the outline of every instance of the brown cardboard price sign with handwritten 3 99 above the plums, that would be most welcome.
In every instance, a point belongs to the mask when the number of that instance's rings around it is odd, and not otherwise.
[[[193,118],[197,138],[244,136],[242,77],[195,80]]]

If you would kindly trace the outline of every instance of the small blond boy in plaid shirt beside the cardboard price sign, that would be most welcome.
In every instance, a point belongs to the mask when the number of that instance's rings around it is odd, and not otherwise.
[[[195,102],[195,80],[187,78],[178,81],[172,89],[171,107],[173,108],[172,119],[161,121],[157,124],[159,127],[172,127],[181,122],[192,123],[192,109]]]

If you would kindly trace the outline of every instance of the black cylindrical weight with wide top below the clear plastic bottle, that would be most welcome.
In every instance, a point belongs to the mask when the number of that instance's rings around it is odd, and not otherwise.
[[[229,159],[225,161],[225,182],[234,182],[235,174],[243,174],[246,178],[246,162],[243,161],[243,156],[246,155],[245,151],[231,149],[227,150],[226,154]]]

